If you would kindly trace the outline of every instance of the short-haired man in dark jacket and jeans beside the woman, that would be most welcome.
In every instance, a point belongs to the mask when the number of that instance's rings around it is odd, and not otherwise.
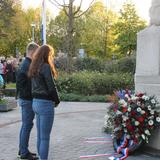
[[[16,78],[16,94],[18,96],[19,106],[22,113],[22,126],[19,135],[19,152],[20,159],[36,160],[35,153],[28,150],[30,132],[33,127],[34,112],[32,109],[31,80],[28,78],[28,70],[32,61],[32,57],[38,49],[38,45],[34,42],[27,46],[27,55],[18,69]]]

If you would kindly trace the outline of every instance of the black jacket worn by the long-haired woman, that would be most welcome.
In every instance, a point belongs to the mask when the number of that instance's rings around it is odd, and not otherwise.
[[[37,76],[32,78],[33,98],[52,100],[59,104],[59,96],[49,64],[42,65]]]

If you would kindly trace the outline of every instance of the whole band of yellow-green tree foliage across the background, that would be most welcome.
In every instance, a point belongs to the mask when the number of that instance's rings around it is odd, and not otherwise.
[[[69,10],[61,7],[59,15],[47,19],[47,43],[56,52],[67,53],[71,45],[70,56],[78,55],[78,49],[84,48],[86,55],[111,59],[114,55],[123,57],[136,49],[137,32],[146,26],[132,3],[125,3],[119,13],[96,1],[83,14],[80,6],[72,4],[72,26],[69,26]],[[35,41],[41,44],[41,9],[23,10],[21,0],[0,1],[0,54],[16,56],[21,54],[32,39],[31,23],[35,23]],[[47,17],[49,14],[47,13]],[[71,30],[70,30],[71,29]],[[69,37],[71,44],[69,45]]]

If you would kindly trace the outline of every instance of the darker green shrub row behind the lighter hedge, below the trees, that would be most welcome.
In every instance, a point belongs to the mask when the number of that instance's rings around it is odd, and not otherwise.
[[[98,58],[76,58],[73,59],[72,71],[97,71],[108,73],[135,73],[136,57],[124,57],[114,61],[104,61]],[[67,58],[56,59],[56,66],[59,70],[65,71],[67,68]]]

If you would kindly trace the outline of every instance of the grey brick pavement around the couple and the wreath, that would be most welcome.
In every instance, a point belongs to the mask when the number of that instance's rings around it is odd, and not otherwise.
[[[102,126],[107,104],[62,102],[56,109],[51,134],[49,160],[79,160],[79,156],[113,152],[112,144],[87,144],[85,138],[109,136]],[[0,160],[16,160],[20,128],[19,108],[0,113]],[[30,148],[36,151],[36,128],[33,128]],[[95,158],[106,160],[107,157]],[[143,154],[128,160],[158,160]]]

